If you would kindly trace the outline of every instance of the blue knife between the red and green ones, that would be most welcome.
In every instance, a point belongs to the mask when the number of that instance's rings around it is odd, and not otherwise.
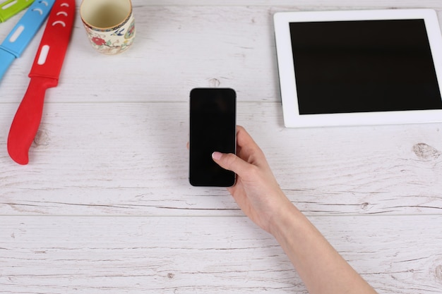
[[[14,59],[23,54],[46,20],[55,0],[37,0],[0,44],[0,80]]]

